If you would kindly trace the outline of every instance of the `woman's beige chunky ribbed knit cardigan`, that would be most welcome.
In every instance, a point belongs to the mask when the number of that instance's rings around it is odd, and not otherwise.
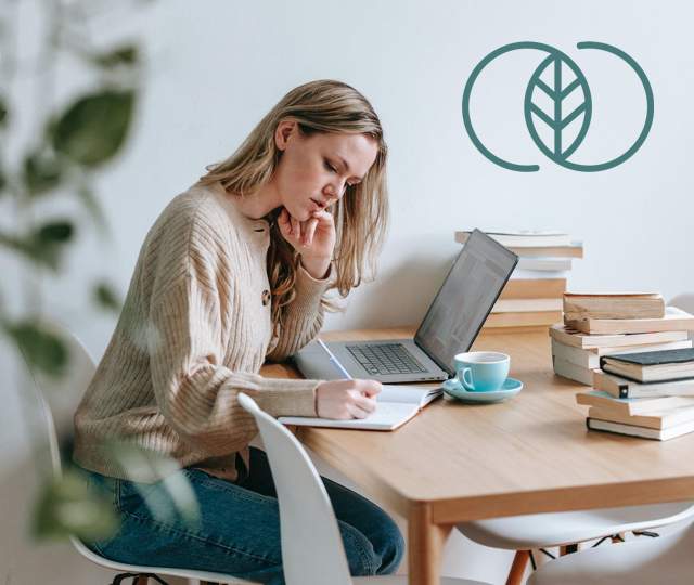
[[[329,278],[299,268],[296,299],[272,337],[266,257],[269,224],[243,216],[219,185],[193,185],[150,230],[123,313],[75,415],[75,461],[99,473],[153,482],[156,465],[128,466],[113,443],[134,443],[235,480],[248,464],[248,393],[274,416],[316,416],[318,380],[258,375],[320,330]]]

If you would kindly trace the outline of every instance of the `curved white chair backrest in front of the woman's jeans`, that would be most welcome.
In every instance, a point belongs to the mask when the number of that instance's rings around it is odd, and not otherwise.
[[[239,403],[256,419],[280,503],[282,566],[288,585],[349,585],[349,567],[325,486],[296,438],[248,395]]]

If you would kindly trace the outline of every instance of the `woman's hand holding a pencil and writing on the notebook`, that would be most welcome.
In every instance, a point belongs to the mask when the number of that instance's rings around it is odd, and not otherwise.
[[[316,389],[316,414],[321,418],[364,418],[376,408],[381,382],[332,380]]]

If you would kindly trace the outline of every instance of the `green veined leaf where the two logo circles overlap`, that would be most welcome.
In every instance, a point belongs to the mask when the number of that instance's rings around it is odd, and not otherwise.
[[[562,78],[562,64],[566,64],[567,68],[573,74],[573,79],[568,83],[565,83]],[[542,80],[543,74],[548,72],[551,74],[552,86],[549,86]],[[549,98],[553,108],[550,113],[542,109],[535,101],[534,96],[537,93],[543,93]],[[574,98],[578,92],[581,92],[581,103],[578,106],[574,106],[570,112],[564,112],[563,105],[569,98]],[[562,57],[561,53],[550,54],[535,70],[528,82],[528,87],[525,91],[525,121],[528,126],[528,131],[532,136],[532,140],[537,146],[555,162],[566,160],[576,148],[578,148],[586,138],[588,128],[590,126],[590,118],[592,115],[592,99],[590,94],[590,88],[583,73],[571,61],[566,61]],[[569,123],[577,118],[582,117],[582,123],[576,138],[570,144],[564,144],[564,133]],[[536,123],[541,122],[548,126],[551,130],[552,143],[545,144],[540,138]]]

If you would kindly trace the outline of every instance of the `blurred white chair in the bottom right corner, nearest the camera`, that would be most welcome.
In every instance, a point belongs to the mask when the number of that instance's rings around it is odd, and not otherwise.
[[[691,585],[694,525],[658,538],[639,538],[552,560],[527,585]]]

